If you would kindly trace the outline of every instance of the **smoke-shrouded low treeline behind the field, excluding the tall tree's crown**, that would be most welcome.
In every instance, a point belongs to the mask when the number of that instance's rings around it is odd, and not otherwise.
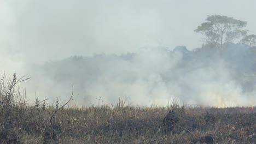
[[[114,87],[109,87],[113,83],[119,87],[147,85],[143,90],[147,92],[145,95],[162,85],[165,85],[165,91],[178,87],[182,93],[172,91],[168,95],[177,95],[181,101],[186,101],[190,98],[187,95],[192,95],[191,100],[197,100],[195,97],[201,94],[202,86],[212,87],[212,83],[220,87],[232,83],[231,87],[226,87],[230,91],[240,89],[242,93],[255,93],[255,55],[256,47],[234,43],[225,43],[223,49],[209,45],[193,50],[187,50],[185,46],[173,50],[151,47],[123,55],[72,56],[45,63],[42,71],[56,86],[73,83],[78,93],[84,94],[86,103],[95,99],[94,92],[98,91],[118,99],[120,93],[115,94],[115,91],[120,89],[109,90]],[[138,84],[138,81],[142,83]],[[155,93],[149,97],[154,97]]]

